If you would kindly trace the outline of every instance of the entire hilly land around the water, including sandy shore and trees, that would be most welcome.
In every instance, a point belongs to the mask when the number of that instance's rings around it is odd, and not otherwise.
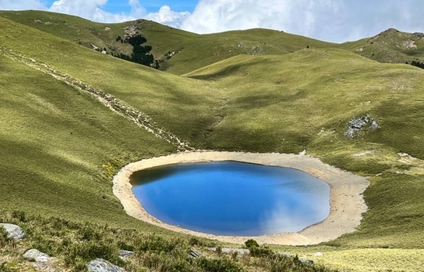
[[[0,11],[0,37],[0,271],[424,271],[423,33]],[[322,179],[329,218],[231,240],[126,204],[136,171],[218,160]]]

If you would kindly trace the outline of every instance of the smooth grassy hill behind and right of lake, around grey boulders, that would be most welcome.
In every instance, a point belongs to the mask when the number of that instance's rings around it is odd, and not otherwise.
[[[187,76],[225,93],[220,122],[209,129],[208,148],[305,149],[370,176],[372,185],[365,192],[370,211],[358,232],[334,244],[423,247],[424,130],[417,122],[424,118],[424,71],[379,64],[340,49],[304,49],[283,56],[233,57]],[[354,139],[344,136],[348,120],[363,114],[377,120],[379,129]],[[418,159],[402,162],[398,153]]]

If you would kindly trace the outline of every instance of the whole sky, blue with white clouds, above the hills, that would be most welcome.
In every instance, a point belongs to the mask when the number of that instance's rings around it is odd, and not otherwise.
[[[144,18],[201,34],[270,28],[327,42],[388,28],[424,32],[424,0],[0,0],[0,10],[25,9],[102,23]]]

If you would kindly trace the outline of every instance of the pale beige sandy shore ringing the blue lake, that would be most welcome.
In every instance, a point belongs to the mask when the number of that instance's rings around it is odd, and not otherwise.
[[[310,173],[322,179],[331,187],[330,214],[322,222],[311,225],[300,232],[283,232],[257,237],[209,235],[161,222],[143,209],[131,191],[132,186],[129,183],[129,177],[133,172],[159,165],[219,160],[236,160],[261,165],[291,167]],[[261,244],[306,245],[326,242],[344,233],[353,232],[355,227],[360,224],[362,213],[367,211],[362,193],[368,185],[369,182],[365,177],[360,177],[351,172],[346,172],[332,167],[331,165],[326,165],[319,159],[308,155],[195,151],[141,160],[126,165],[119,170],[117,175],[113,178],[113,193],[121,201],[128,215],[147,223],[164,227],[167,230],[237,244],[242,244],[247,239],[252,238]]]

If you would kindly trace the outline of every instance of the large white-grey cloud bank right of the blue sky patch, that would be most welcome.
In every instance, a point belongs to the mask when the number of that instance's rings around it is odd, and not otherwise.
[[[422,0],[200,0],[181,27],[198,33],[271,28],[344,42],[387,28],[423,32],[423,10]]]

